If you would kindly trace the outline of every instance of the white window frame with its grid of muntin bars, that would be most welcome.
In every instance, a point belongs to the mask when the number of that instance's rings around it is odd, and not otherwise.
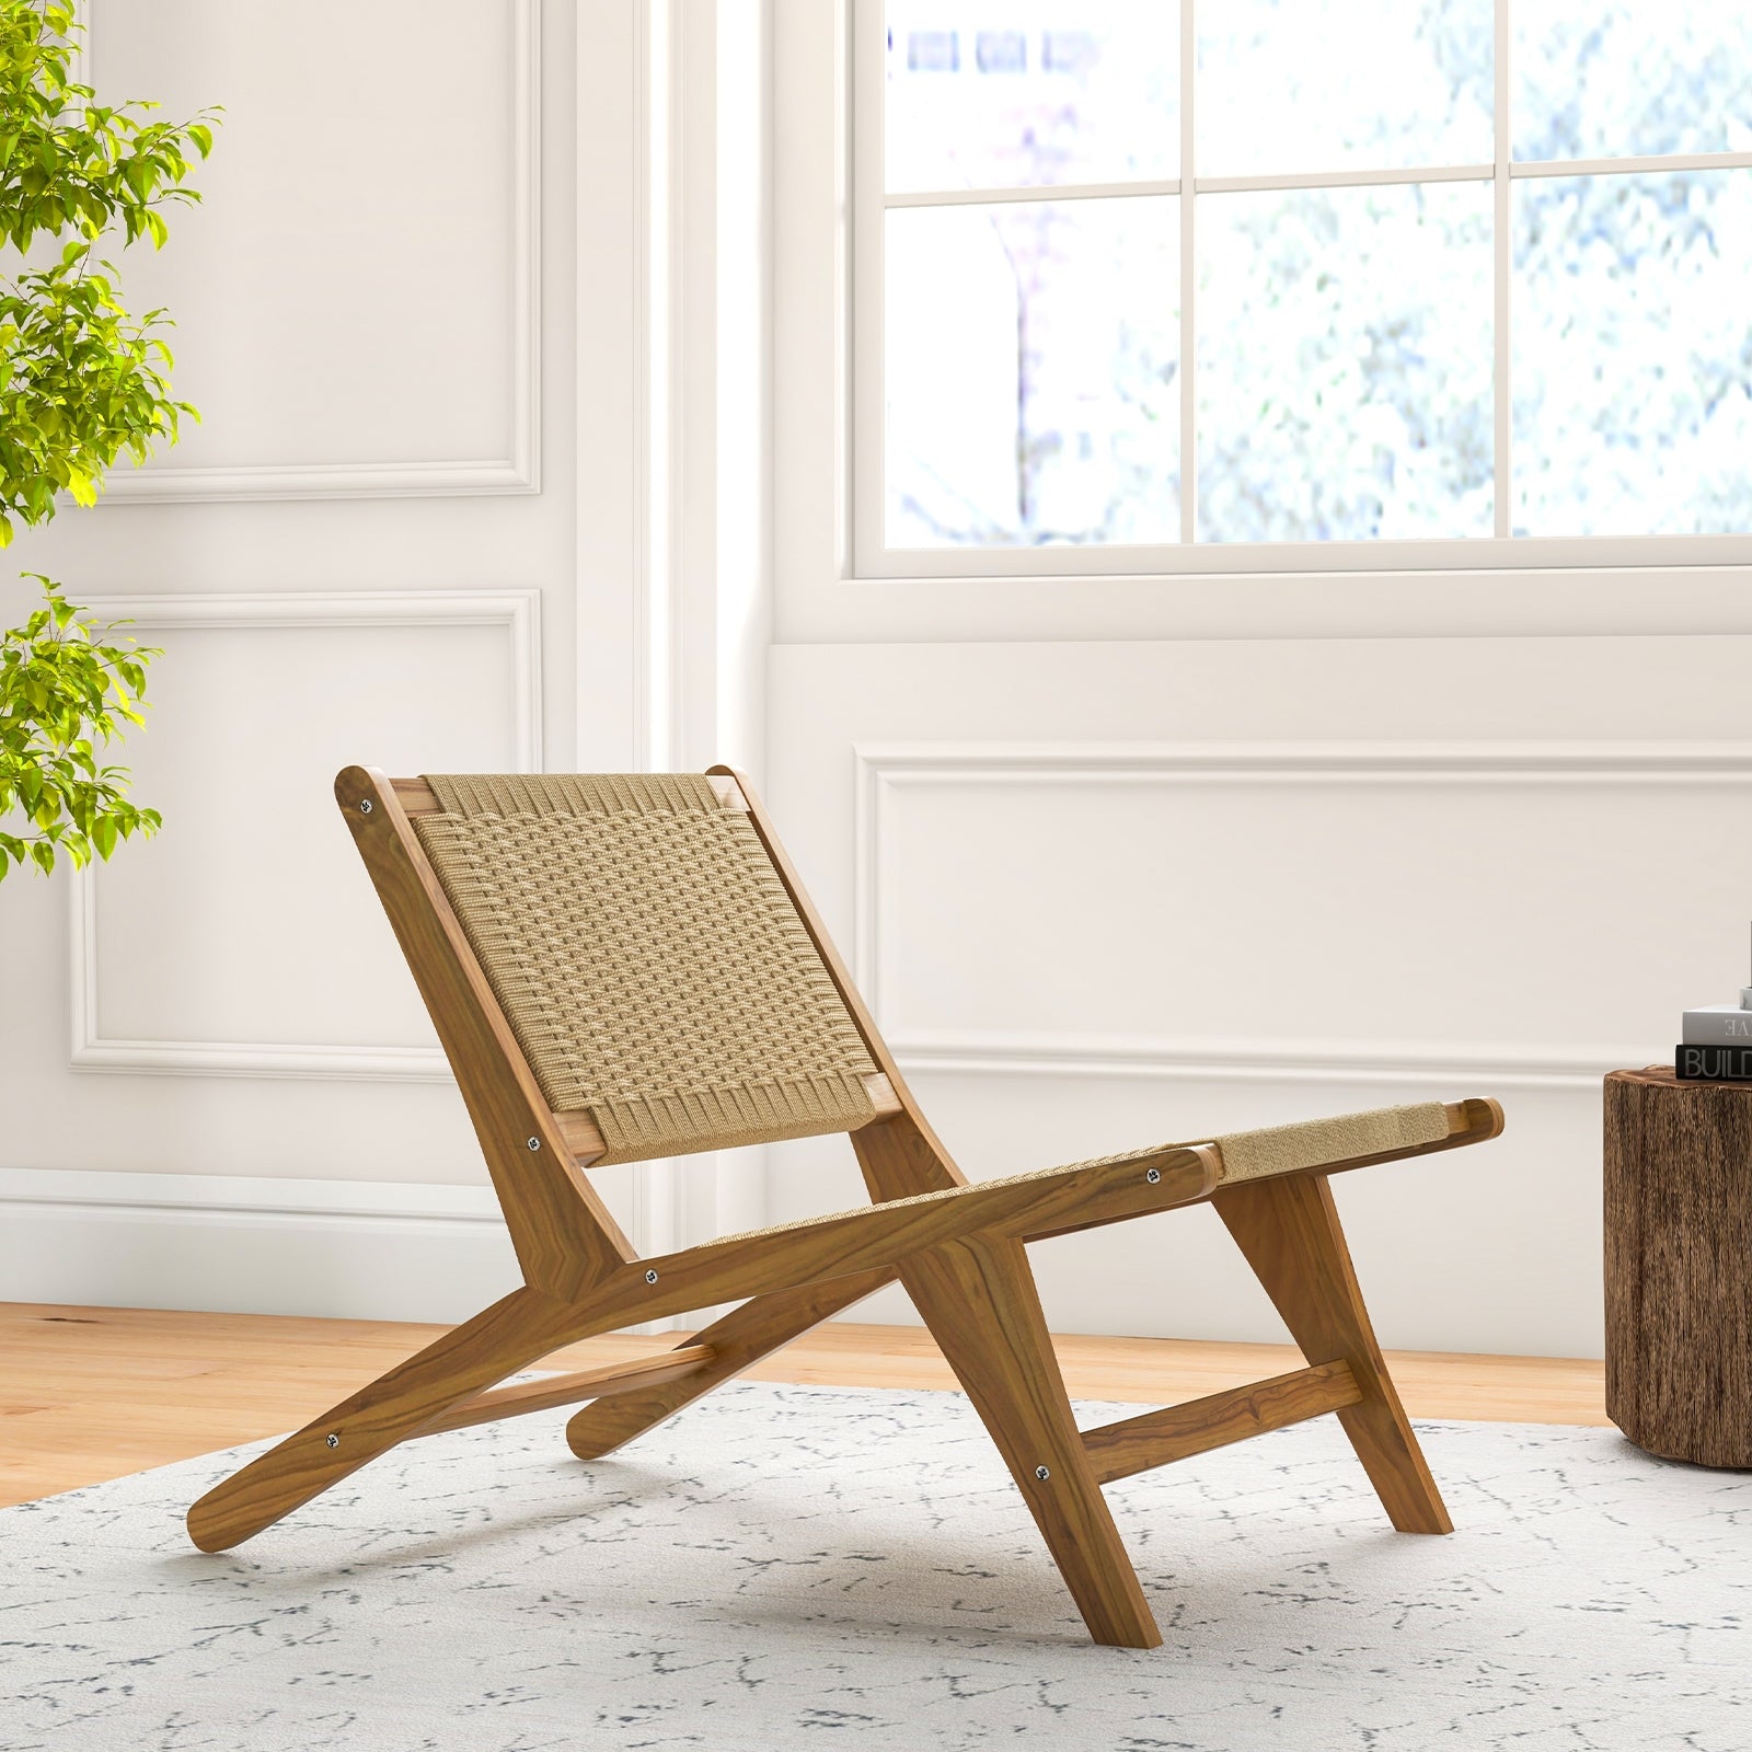
[[[1666,158],[1594,158],[1517,163],[1510,137],[1510,0],[1496,0],[1496,137],[1493,159],[1417,170],[1310,172],[1261,177],[1197,175],[1193,75],[1197,5],[1181,0],[1181,165],[1191,179],[1049,187],[944,189],[890,194],[885,182],[883,109],[887,96],[887,23],[883,0],[851,4],[851,420],[846,506],[851,522],[853,578],[1086,578],[1261,573],[1407,573],[1526,571],[1598,566],[1743,566],[1752,562],[1752,533],[1659,536],[1510,536],[1512,487],[1512,184],[1528,177],[1740,170],[1752,152],[1701,152]],[[1414,182],[1487,182],[1494,196],[1494,498],[1491,536],[1424,541],[1195,541],[1197,517],[1197,349],[1195,282],[1198,194],[1267,189],[1335,189]],[[1186,198],[1186,189],[1193,198]],[[999,201],[1069,201],[1116,196],[1181,198],[1181,541],[1163,545],[1058,543],[1051,547],[892,548],[885,541],[885,335],[883,244],[887,214],[904,207],[992,205]]]

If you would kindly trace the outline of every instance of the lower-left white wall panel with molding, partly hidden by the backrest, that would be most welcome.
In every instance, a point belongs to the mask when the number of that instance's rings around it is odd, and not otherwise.
[[[75,1070],[445,1081],[333,774],[534,771],[533,590],[107,597],[154,668],[163,832],[74,883]]]

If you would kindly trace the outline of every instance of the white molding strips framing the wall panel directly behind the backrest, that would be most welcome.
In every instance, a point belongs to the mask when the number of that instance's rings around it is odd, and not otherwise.
[[[110,596],[89,601],[100,620],[131,620],[130,631],[244,627],[503,627],[512,657],[513,764],[541,769],[541,596],[538,590],[352,590],[210,596]],[[124,1076],[319,1077],[324,1081],[449,1083],[433,1046],[335,1046],[326,1042],[130,1041],[98,1020],[96,869],[74,872],[70,1014],[74,1070]]]

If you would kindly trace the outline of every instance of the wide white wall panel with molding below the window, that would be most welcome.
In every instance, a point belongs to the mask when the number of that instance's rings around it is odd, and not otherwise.
[[[857,972],[916,1070],[1593,1091],[1713,990],[1752,869],[1752,745],[908,743],[857,771]],[[1680,871],[1661,955],[1626,955]]]

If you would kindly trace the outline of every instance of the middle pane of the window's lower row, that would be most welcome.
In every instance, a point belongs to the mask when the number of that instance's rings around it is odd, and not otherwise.
[[[1198,196],[1198,536],[1491,533],[1491,189]]]

